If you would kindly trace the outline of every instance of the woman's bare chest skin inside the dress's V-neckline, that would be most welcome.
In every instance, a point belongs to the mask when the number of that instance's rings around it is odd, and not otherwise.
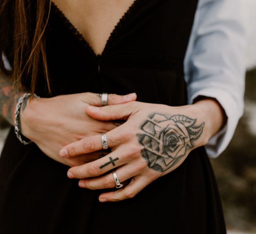
[[[53,0],[70,22],[101,54],[110,33],[134,0]]]

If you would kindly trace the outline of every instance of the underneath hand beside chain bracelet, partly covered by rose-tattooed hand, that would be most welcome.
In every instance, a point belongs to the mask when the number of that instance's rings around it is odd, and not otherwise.
[[[130,96],[108,95],[108,104],[134,101]],[[118,121],[99,121],[87,115],[87,105],[101,106],[101,96],[90,92],[61,95],[52,98],[25,99],[21,106],[22,134],[31,139],[50,158],[74,166],[98,159],[106,152],[93,152],[75,158],[62,158],[60,149],[72,142],[110,131],[120,125]]]

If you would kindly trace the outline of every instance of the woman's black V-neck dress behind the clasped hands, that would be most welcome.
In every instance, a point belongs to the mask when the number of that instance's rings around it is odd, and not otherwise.
[[[137,101],[187,103],[183,60],[197,0],[135,0],[97,56],[52,4],[47,59],[54,95],[137,93]],[[46,97],[39,76],[36,94]],[[1,234],[225,233],[220,197],[204,147],[132,199],[100,203],[102,190],[78,187],[68,166],[13,129],[0,158]]]

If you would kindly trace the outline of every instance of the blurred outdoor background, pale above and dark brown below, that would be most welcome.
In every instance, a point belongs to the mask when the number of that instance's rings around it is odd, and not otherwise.
[[[211,159],[228,234],[256,234],[256,0],[243,1],[248,38],[244,115],[227,150]],[[0,151],[8,130],[0,118]]]

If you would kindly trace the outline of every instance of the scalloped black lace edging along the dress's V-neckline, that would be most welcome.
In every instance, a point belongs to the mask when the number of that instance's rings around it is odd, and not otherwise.
[[[61,11],[61,9],[54,2],[52,2],[52,6],[55,7],[57,12],[60,14],[61,18],[63,18],[65,20],[66,24],[69,26],[69,28],[72,29],[73,34],[78,38],[78,40],[81,41],[86,47],[89,48],[90,53],[92,53],[95,57],[101,57],[102,55],[105,54],[105,51],[109,47],[109,43],[110,43],[110,41],[112,41],[113,36],[121,28],[121,25],[127,20],[128,15],[130,15],[132,13],[133,9],[135,9],[135,6],[136,6],[137,2],[139,2],[139,1],[140,0],[134,0],[132,5],[130,5],[128,10],[119,19],[119,21],[115,25],[114,29],[112,30],[112,32],[110,32],[108,40],[106,41],[105,47],[103,48],[103,51],[102,51],[101,54],[96,54],[95,53],[94,49],[90,46],[90,43],[85,39],[85,37],[82,35],[82,33],[79,32],[79,30],[73,25],[72,22],[70,22],[70,20],[66,17],[66,15]]]

